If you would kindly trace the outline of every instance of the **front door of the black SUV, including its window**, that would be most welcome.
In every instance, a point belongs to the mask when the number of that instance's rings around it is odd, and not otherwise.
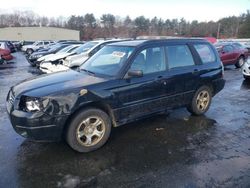
[[[163,109],[166,85],[166,60],[164,47],[146,48],[134,58],[128,71],[142,71],[140,77],[121,80],[114,92],[119,101],[117,120],[141,117]]]

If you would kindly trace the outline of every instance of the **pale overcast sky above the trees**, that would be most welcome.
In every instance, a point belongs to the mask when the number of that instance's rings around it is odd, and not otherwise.
[[[111,13],[131,18],[157,16],[163,19],[217,21],[226,16],[239,16],[250,9],[250,0],[3,0],[0,13],[14,10],[32,10],[48,17],[84,15],[96,17]]]

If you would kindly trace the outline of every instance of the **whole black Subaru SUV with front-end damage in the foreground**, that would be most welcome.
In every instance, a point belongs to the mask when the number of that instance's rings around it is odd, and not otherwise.
[[[216,50],[202,39],[117,42],[78,70],[12,87],[7,111],[20,135],[65,137],[73,149],[89,152],[107,141],[111,127],[177,107],[204,114],[224,87],[223,73]]]

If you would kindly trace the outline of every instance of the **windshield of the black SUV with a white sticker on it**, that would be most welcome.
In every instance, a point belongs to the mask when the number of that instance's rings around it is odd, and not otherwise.
[[[80,69],[92,74],[116,76],[133,50],[134,47],[128,46],[104,46]]]

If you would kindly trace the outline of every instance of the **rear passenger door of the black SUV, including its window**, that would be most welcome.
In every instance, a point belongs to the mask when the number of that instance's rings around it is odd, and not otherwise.
[[[190,102],[199,84],[200,70],[188,44],[166,46],[168,107]]]

